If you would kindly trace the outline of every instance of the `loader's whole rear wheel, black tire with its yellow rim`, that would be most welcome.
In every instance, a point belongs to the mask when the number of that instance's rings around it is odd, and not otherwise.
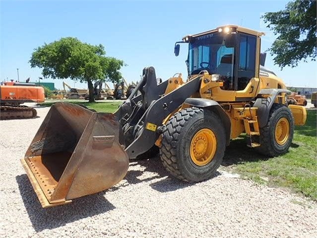
[[[293,135],[294,118],[291,110],[285,105],[274,103],[266,126],[260,128],[261,146],[258,151],[269,157],[283,155],[288,151]]]

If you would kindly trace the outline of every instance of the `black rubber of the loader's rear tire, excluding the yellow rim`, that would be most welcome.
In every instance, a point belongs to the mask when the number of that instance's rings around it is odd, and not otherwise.
[[[284,144],[279,145],[275,139],[275,127],[281,118],[286,118],[289,123],[289,136]],[[260,144],[258,151],[269,157],[275,157],[285,154],[293,140],[294,135],[294,117],[291,110],[282,104],[274,103],[265,127],[260,128]]]

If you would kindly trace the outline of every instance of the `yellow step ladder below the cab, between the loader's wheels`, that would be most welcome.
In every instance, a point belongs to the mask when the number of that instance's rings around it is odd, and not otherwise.
[[[244,118],[243,122],[249,139],[247,146],[251,148],[259,147],[260,130],[258,127],[257,116],[254,116],[252,119]]]

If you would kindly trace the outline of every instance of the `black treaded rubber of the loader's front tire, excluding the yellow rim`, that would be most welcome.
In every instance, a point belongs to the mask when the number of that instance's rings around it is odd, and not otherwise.
[[[200,129],[210,129],[216,137],[213,159],[203,166],[190,158],[190,142]],[[163,131],[160,157],[165,168],[175,177],[187,182],[211,178],[223,159],[226,135],[219,116],[209,110],[186,108],[174,114]]]

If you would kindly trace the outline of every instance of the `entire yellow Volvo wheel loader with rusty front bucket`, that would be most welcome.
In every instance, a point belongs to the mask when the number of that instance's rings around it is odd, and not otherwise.
[[[159,151],[171,175],[187,182],[211,178],[230,141],[267,157],[287,153],[306,109],[287,105],[290,93],[260,54],[262,32],[225,25],[175,44],[188,45],[188,78],[157,83],[155,69],[115,113],[58,102],[21,159],[43,207],[106,190],[122,180],[129,159]]]

